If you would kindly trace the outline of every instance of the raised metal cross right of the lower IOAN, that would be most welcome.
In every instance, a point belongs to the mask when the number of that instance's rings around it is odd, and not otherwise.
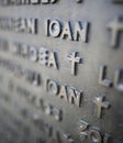
[[[93,102],[97,105],[98,107],[98,118],[101,118],[102,114],[102,109],[108,109],[110,107],[110,103],[108,101],[103,101],[105,98],[105,96],[101,96],[101,97],[94,97]]]

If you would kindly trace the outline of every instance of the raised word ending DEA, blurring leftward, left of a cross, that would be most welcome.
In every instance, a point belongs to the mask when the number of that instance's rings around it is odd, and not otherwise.
[[[48,48],[13,43],[13,53],[33,63],[58,69],[56,52],[51,52]]]

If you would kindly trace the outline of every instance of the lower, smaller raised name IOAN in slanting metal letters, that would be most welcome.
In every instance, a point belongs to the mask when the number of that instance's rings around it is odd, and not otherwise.
[[[68,87],[66,84],[59,85],[57,81],[52,79],[46,80],[46,90],[49,94],[59,97],[71,105],[81,107],[82,101],[81,90],[77,90],[74,87]]]

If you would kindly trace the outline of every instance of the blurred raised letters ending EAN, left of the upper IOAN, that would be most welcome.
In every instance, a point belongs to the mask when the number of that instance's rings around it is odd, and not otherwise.
[[[36,34],[37,19],[0,16],[0,30],[16,33]]]

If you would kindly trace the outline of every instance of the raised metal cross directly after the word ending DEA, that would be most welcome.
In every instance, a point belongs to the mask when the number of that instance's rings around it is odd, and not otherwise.
[[[80,64],[82,58],[78,57],[78,52],[72,52],[70,55],[67,56],[67,59],[71,62],[71,75],[76,75],[76,66]]]

